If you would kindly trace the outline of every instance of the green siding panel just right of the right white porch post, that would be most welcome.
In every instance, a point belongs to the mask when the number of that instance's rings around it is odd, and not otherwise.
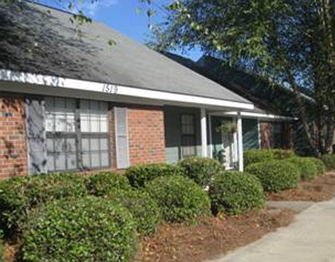
[[[258,122],[256,119],[243,119],[243,150],[259,149]]]

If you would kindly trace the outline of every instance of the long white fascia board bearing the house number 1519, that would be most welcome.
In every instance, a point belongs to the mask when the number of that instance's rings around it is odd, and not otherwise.
[[[184,103],[210,105],[210,106],[222,106],[227,108],[236,108],[245,110],[254,109],[254,105],[251,103],[235,102],[229,100],[156,91],[144,88],[63,78],[57,76],[16,72],[6,69],[0,69],[0,80],[36,84],[36,85],[45,85],[51,87],[79,89],[85,91],[101,92],[111,95],[124,95],[132,97],[150,98],[155,100],[184,102]]]

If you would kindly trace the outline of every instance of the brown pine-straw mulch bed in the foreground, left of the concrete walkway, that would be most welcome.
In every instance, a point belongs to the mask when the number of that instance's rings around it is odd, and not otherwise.
[[[163,224],[144,239],[135,262],[201,262],[252,243],[288,226],[292,210],[263,210],[235,217],[203,219],[198,225]]]

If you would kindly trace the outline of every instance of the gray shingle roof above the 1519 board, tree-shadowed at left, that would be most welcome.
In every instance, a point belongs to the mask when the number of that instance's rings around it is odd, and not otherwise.
[[[0,68],[250,103],[99,22],[75,32],[69,13],[0,4]],[[109,40],[116,41],[109,46]]]

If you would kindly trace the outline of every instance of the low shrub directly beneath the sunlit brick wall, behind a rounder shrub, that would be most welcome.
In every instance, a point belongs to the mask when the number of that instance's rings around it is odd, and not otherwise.
[[[181,175],[182,170],[171,164],[141,164],[129,167],[126,177],[132,187],[143,188],[148,181],[157,177]]]

